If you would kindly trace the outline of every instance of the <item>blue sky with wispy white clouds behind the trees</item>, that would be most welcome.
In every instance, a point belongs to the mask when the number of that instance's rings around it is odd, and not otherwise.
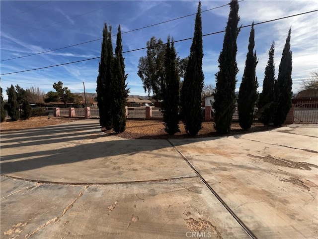
[[[202,10],[225,5],[230,0],[201,1]],[[196,13],[198,1],[0,1],[0,72],[1,74],[46,67],[62,63],[100,57],[101,40],[63,50],[7,60],[33,53],[70,46],[102,37],[104,22],[112,25],[116,35],[118,24],[122,32],[156,24],[162,21]],[[244,0],[239,2],[239,24],[248,25],[275,18],[318,9],[317,1],[310,0]],[[202,13],[203,34],[225,29],[229,5]],[[123,51],[146,46],[152,36],[166,41],[168,34],[174,40],[193,36],[195,15],[159,24],[122,35]],[[259,92],[262,90],[268,50],[275,41],[275,67],[278,74],[282,50],[289,27],[292,27],[291,50],[293,52],[293,92],[300,90],[302,79],[310,71],[318,69],[318,12],[290,17],[255,25],[255,48],[258,58],[256,75]],[[250,27],[242,28],[238,37],[237,91],[244,71]],[[222,50],[224,33],[203,37],[203,73],[205,84],[215,86],[218,57]],[[113,45],[116,36],[112,38]],[[191,40],[175,43],[178,56],[189,55]],[[138,61],[146,56],[146,50],[124,53],[128,87],[131,95],[147,95],[137,75]],[[54,91],[52,84],[62,81],[75,92],[96,91],[98,59],[1,76],[4,99],[5,90],[11,84],[26,89],[39,87],[44,92]]]

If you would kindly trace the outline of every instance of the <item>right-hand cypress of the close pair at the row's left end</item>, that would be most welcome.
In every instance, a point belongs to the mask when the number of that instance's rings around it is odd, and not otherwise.
[[[121,39],[121,29],[118,26],[117,41],[115,48],[115,59],[114,59],[114,84],[113,84],[113,106],[112,106],[112,117],[113,117],[113,128],[115,132],[123,132],[126,128],[126,98],[127,91],[125,85],[125,64],[122,55],[123,45]],[[127,75],[126,75],[127,78]]]

